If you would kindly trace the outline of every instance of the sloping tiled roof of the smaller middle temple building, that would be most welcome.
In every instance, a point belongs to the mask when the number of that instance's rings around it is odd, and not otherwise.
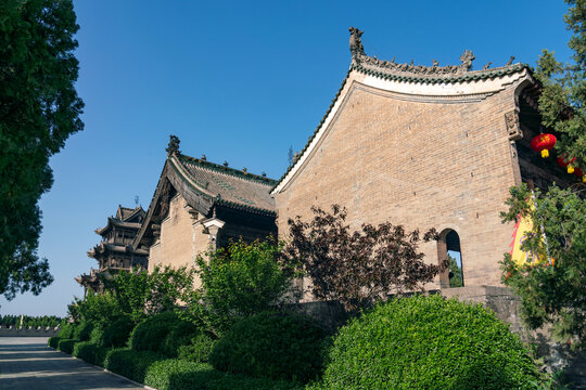
[[[228,207],[275,212],[275,199],[269,194],[275,180],[200,158],[175,156],[200,195]]]

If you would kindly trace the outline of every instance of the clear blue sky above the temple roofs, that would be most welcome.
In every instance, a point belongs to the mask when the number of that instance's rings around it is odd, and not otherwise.
[[[569,61],[562,0],[74,1],[80,30],[84,131],[51,159],[39,253],[55,282],[35,297],[0,299],[2,314],[65,315],[95,266],[86,252],[118,204],[149,206],[168,135],[191,156],[278,179],[303,148],[351,64],[348,27],[367,54],[475,68],[542,49]],[[515,62],[517,62],[515,61]]]

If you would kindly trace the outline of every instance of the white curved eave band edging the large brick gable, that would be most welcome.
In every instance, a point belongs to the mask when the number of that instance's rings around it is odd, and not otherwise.
[[[361,66],[360,64],[353,64],[351,68],[348,69],[348,73],[346,74],[346,77],[342,81],[342,86],[340,87],[340,90],[337,91],[335,99],[332,101],[330,106],[328,107],[328,110],[326,112],[326,115],[317,126],[314,133],[309,136],[307,143],[305,144],[304,148],[300,153],[297,159],[289,166],[284,174],[279,179],[277,184],[271,188],[270,194],[275,195],[283,191],[286,185],[293,180],[293,178],[296,177],[297,172],[302,169],[302,167],[305,166],[307,160],[309,159],[311,152],[316,147],[316,145],[319,144],[321,138],[326,133],[326,129],[330,126],[332,120],[336,117],[336,114],[342,106],[342,103],[344,99],[348,95],[349,88],[347,86],[352,86],[354,82],[357,81],[357,79],[361,79],[358,82],[362,83],[366,82],[369,87],[374,87],[379,89],[386,90],[388,92],[397,92],[405,95],[409,95],[409,92],[406,91],[395,91],[392,88],[384,88],[381,87],[381,83],[390,82],[394,83],[395,86],[413,86],[419,84],[423,87],[429,87],[434,89],[434,94],[430,94],[430,96],[433,98],[444,98],[449,99],[453,96],[466,96],[466,92],[462,93],[461,91],[450,93],[449,91],[446,92],[445,86],[446,84],[454,84],[459,87],[466,87],[471,83],[477,83],[477,82],[491,82],[495,79],[506,79],[511,78],[515,75],[523,75],[526,73],[527,77],[533,79],[531,76],[531,68],[527,65],[524,64],[514,64],[510,66],[505,66],[501,68],[495,68],[495,69],[486,69],[486,70],[476,70],[476,72],[467,72],[462,74],[455,74],[455,75],[442,75],[442,76],[429,76],[429,75],[415,75],[415,74],[392,74],[392,73],[384,73],[380,69],[372,69],[372,68],[366,68]],[[369,81],[367,81],[368,79]],[[379,81],[374,81],[379,80]],[[348,81],[351,81],[348,83]],[[440,91],[440,89],[443,89],[443,91]],[[466,89],[466,88],[464,88]],[[436,92],[440,92],[442,94],[435,94]],[[473,92],[469,95],[482,95],[482,94],[489,94],[489,93],[496,93],[498,92],[498,89],[494,89],[494,91],[487,90],[487,91],[481,91],[481,92]],[[417,92],[413,92],[412,95],[418,95]],[[421,96],[421,94],[419,94]]]

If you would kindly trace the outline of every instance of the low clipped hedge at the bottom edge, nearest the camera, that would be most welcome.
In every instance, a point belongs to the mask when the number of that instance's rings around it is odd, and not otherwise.
[[[167,359],[153,363],[144,380],[144,385],[158,390],[301,390],[303,386],[273,381],[270,379],[249,378],[240,375],[225,374],[212,368],[209,364],[184,362]]]

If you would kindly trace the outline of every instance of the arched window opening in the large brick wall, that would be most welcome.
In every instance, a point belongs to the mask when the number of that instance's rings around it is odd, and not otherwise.
[[[437,242],[437,260],[440,264],[448,261],[448,269],[440,275],[442,288],[463,287],[462,251],[460,248],[460,237],[451,229],[447,229],[440,234]]]

